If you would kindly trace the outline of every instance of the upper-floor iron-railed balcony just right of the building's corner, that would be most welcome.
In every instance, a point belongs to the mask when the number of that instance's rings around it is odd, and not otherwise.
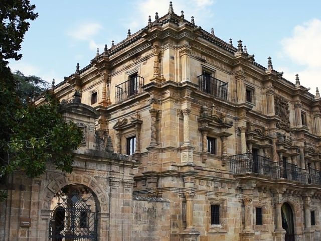
[[[217,98],[228,100],[227,83],[209,74],[197,76],[199,80],[199,89],[205,93],[211,94]]]

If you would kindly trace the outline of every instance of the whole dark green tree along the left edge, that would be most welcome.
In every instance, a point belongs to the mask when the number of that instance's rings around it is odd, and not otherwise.
[[[31,101],[46,86],[37,76],[13,74],[8,60],[19,60],[18,52],[28,21],[38,17],[35,5],[27,0],[7,0],[0,4],[0,184],[9,174],[24,171],[36,177],[51,161],[62,171],[72,171],[72,150],[78,148],[82,132],[74,123],[66,123],[60,104],[51,91],[45,93],[45,104]],[[0,186],[0,201],[5,198]]]

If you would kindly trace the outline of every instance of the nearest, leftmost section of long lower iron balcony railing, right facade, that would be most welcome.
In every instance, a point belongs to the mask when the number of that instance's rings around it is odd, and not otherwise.
[[[230,156],[232,174],[257,173],[269,177],[278,176],[278,165],[267,157],[244,153]]]

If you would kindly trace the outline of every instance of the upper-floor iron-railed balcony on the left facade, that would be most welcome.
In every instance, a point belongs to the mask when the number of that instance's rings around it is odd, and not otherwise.
[[[134,76],[129,80],[116,85],[116,102],[127,99],[136,95],[142,91],[144,85],[144,78],[140,76]]]

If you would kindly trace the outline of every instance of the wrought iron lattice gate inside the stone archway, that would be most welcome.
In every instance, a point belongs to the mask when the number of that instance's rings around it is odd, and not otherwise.
[[[97,207],[93,195],[74,190],[59,196],[49,222],[50,241],[96,241]]]

